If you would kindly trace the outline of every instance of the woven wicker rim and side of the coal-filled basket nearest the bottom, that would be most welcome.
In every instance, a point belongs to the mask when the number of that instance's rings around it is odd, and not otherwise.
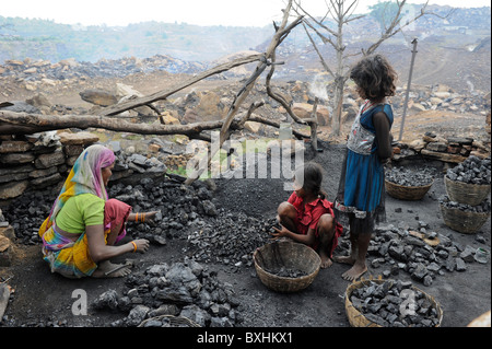
[[[350,296],[352,295],[352,292],[356,289],[360,289],[366,284],[370,284],[370,282],[376,282],[376,283],[384,283],[384,282],[394,282],[393,280],[382,280],[382,279],[361,279],[361,281],[354,281],[347,288],[345,291],[345,313],[349,318],[349,323],[352,327],[383,327],[378,324],[375,324],[367,319],[361,312],[359,312],[355,306],[352,305],[352,302],[350,301]],[[437,303],[437,301],[430,294],[425,293],[424,291],[415,288],[412,286],[412,290],[422,292],[424,296],[431,302],[431,304],[436,309],[437,316],[438,316],[438,323],[435,327],[441,327],[441,322],[443,321],[443,310],[441,309],[441,305]]]

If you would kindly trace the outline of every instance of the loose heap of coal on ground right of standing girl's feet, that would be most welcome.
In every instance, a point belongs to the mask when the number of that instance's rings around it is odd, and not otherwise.
[[[452,237],[430,231],[429,224],[423,221],[419,221],[415,230],[380,225],[376,228],[367,251],[368,266],[382,268],[385,278],[407,272],[417,282],[431,286],[445,271],[465,271],[467,264],[473,261],[476,248],[464,247]],[[480,241],[484,243],[483,239]],[[343,254],[349,248],[350,243],[343,236],[337,249]]]

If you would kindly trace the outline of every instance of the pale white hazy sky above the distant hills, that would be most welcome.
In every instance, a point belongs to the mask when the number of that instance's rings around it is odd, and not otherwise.
[[[383,0],[384,1],[384,0]],[[54,20],[63,24],[126,26],[156,21],[198,25],[263,26],[280,21],[285,0],[7,0],[0,15]],[[356,13],[377,0],[360,0]],[[423,3],[424,0],[409,0]],[[324,15],[325,0],[302,0],[314,15]],[[455,8],[490,7],[490,0],[430,0]]]

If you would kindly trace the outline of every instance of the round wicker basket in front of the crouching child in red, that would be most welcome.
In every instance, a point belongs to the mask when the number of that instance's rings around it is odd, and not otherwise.
[[[297,292],[307,288],[321,266],[321,259],[313,248],[291,241],[276,241],[259,247],[253,254],[253,259],[261,282],[277,292]],[[297,269],[306,275],[288,278],[267,271],[281,267]]]

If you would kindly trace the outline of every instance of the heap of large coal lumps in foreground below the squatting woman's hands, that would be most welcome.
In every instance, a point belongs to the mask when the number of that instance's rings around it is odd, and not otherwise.
[[[241,324],[239,301],[234,288],[219,280],[199,263],[157,264],[129,275],[124,295],[115,290],[102,293],[92,305],[96,310],[122,312],[112,325],[168,327],[162,315],[186,317],[202,327],[234,327]]]

